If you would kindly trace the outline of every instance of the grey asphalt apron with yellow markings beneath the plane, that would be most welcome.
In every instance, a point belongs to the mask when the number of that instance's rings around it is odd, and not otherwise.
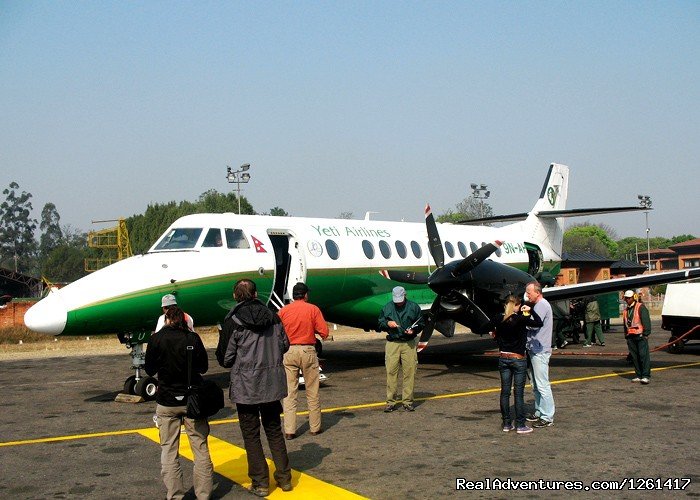
[[[654,324],[651,345],[668,333]],[[369,498],[699,496],[696,379],[700,345],[682,354],[652,353],[652,381],[632,383],[621,329],[606,347],[573,345],[556,351],[550,379],[555,425],[527,435],[504,433],[499,412],[497,359],[491,339],[437,336],[420,355],[417,409],[383,413],[384,342],[379,334],[338,339],[324,346],[329,380],[321,389],[325,432],[310,436],[305,416],[299,437],[287,442],[295,490],[277,498],[330,498],[323,488],[300,485],[299,473]],[[221,387],[228,374],[208,375]],[[564,353],[564,354],[560,354]],[[0,496],[2,498],[163,498],[160,449],[151,420],[155,403],[114,402],[129,375],[122,355],[54,357],[0,362]],[[303,392],[300,410],[305,409]],[[526,401],[532,402],[526,388]],[[212,420],[212,436],[239,450],[243,442],[227,406]],[[245,460],[236,459],[244,472]],[[191,485],[192,463],[183,459]],[[231,465],[231,464],[229,464]],[[229,468],[218,467],[215,498],[252,498]],[[234,479],[231,479],[231,478]],[[647,478],[653,481],[646,480]],[[690,480],[688,483],[687,478]],[[457,490],[500,481],[627,481],[622,490]],[[633,481],[630,481],[632,479]],[[657,479],[659,481],[657,481]],[[671,479],[671,481],[667,481]],[[604,487],[610,487],[604,484]],[[630,489],[630,486],[635,489]],[[661,487],[661,490],[657,488]],[[681,488],[683,490],[672,490]],[[528,488],[528,489],[525,489]],[[188,498],[193,498],[190,490]]]

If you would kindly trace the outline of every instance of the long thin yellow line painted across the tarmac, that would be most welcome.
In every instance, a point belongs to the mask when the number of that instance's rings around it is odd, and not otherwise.
[[[693,362],[693,363],[684,363],[680,365],[671,365],[671,366],[663,366],[659,368],[652,368],[652,372],[660,372],[660,371],[665,371],[665,370],[675,370],[678,368],[692,368],[694,366],[700,366],[700,361],[698,362]],[[569,379],[562,379],[562,380],[552,380],[551,383],[552,385],[558,385],[558,384],[568,384],[572,382],[586,382],[589,380],[597,380],[597,379],[604,379],[604,378],[612,378],[612,377],[621,377],[624,375],[632,375],[634,374],[634,370],[628,370],[624,372],[615,372],[615,373],[605,373],[603,375],[590,375],[586,377],[576,377],[576,378],[569,378]],[[529,384],[528,384],[529,386]],[[437,396],[429,396],[429,397],[424,397],[424,398],[416,398],[417,401],[431,401],[431,400],[437,400],[437,399],[448,399],[448,398],[460,398],[460,397],[466,397],[466,396],[478,396],[480,394],[493,394],[495,392],[500,392],[501,388],[500,387],[494,387],[491,389],[478,389],[474,391],[467,391],[467,392],[456,392],[456,393],[450,393],[450,394],[439,394]],[[348,411],[348,410],[361,410],[364,408],[378,408],[381,406],[384,406],[386,403],[384,401],[379,402],[379,403],[366,403],[366,404],[359,404],[359,405],[350,405],[350,406],[338,406],[335,408],[324,408],[321,411],[323,413],[334,413],[338,411]],[[299,412],[298,415],[305,415],[308,412]],[[215,426],[215,425],[222,425],[222,424],[228,424],[228,423],[236,423],[238,422],[237,418],[225,418],[221,420],[213,420],[209,422],[209,425]],[[8,447],[8,446],[20,446],[20,445],[26,445],[26,444],[44,444],[44,443],[56,443],[56,442],[61,442],[61,441],[75,441],[78,439],[90,439],[90,438],[100,438],[100,437],[110,437],[110,436],[124,436],[128,434],[141,434],[142,432],[146,432],[149,430],[156,430],[154,428],[144,428],[144,429],[127,429],[127,430],[121,430],[121,431],[108,431],[108,432],[94,432],[90,434],[73,434],[69,436],[53,436],[53,437],[46,437],[46,438],[38,438],[38,439],[24,439],[20,441],[5,441],[5,442],[0,442],[0,448],[3,447]],[[157,431],[157,430],[156,430]],[[212,436],[209,437],[210,439]]]

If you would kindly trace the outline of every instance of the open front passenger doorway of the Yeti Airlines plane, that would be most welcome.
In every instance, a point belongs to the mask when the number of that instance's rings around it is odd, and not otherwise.
[[[306,280],[306,265],[299,241],[287,231],[268,231],[275,251],[275,278],[268,305],[281,309],[292,299],[292,288]]]

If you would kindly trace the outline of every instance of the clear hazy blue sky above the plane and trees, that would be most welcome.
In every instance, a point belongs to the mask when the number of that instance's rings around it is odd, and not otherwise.
[[[258,212],[420,221],[556,162],[570,208],[700,237],[699,54],[697,1],[0,0],[0,189],[88,231],[249,163]]]

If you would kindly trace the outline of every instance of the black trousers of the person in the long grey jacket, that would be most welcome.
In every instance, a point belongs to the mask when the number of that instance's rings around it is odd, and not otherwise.
[[[270,486],[270,469],[265,461],[262,441],[260,441],[260,422],[262,421],[267,443],[270,445],[272,461],[275,463],[275,481],[277,484],[291,483],[292,470],[289,467],[287,445],[282,434],[282,403],[272,401],[256,405],[236,403],[238,423],[243,434],[243,443],[248,458],[248,476],[253,486],[268,488]]]

